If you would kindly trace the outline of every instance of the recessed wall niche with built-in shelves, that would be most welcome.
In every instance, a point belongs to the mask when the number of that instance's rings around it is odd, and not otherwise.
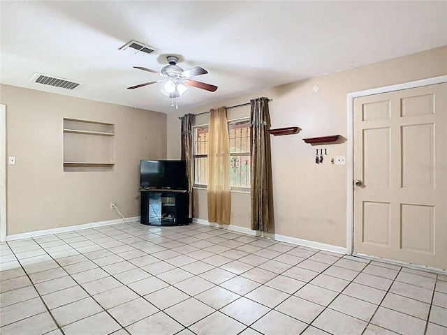
[[[113,170],[114,136],[114,124],[64,119],[64,172]]]

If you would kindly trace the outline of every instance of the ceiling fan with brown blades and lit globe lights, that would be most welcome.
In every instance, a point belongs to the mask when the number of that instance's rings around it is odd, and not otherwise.
[[[169,65],[163,67],[161,72],[156,70],[150,70],[149,68],[142,68],[140,66],[133,66],[133,68],[138,68],[138,70],[144,70],[150,73],[155,73],[161,77],[165,77],[162,80],[155,80],[153,82],[145,82],[144,84],[135,85],[132,87],[128,87],[127,89],[138,89],[139,87],[147,86],[150,84],[156,84],[158,82],[163,82],[163,87],[160,89],[161,93],[169,96],[170,98],[178,98],[188,87],[185,86],[193,86],[198,89],[205,89],[206,91],[214,92],[217,90],[217,86],[212,84],[206,84],[205,82],[198,82],[196,80],[189,79],[190,77],[194,77],[196,75],[205,75],[207,70],[204,68],[200,68],[200,66],[196,66],[195,68],[190,68],[189,70],[184,71],[182,68],[177,66],[178,57],[168,56]]]

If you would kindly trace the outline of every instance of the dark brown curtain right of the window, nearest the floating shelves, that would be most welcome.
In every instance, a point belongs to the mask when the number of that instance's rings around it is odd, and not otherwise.
[[[251,230],[273,228],[268,98],[251,100]]]

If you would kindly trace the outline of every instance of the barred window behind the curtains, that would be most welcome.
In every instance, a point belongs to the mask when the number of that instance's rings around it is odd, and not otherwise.
[[[228,121],[231,188],[250,187],[250,120]],[[208,125],[194,127],[194,185],[207,185]]]

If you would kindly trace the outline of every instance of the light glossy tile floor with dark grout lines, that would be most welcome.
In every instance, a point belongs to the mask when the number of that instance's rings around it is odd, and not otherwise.
[[[447,334],[447,276],[191,224],[1,246],[1,334]]]

